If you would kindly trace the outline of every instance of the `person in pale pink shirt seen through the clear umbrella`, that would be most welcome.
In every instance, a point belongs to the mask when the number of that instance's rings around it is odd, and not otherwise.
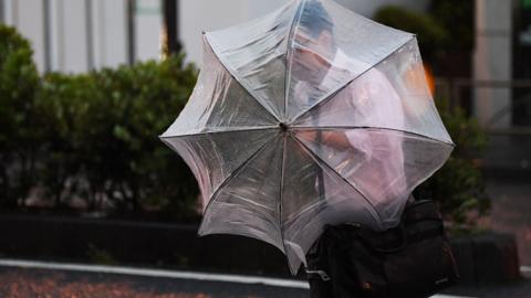
[[[296,79],[294,93],[299,96],[295,98],[303,99],[300,105],[312,107],[316,103],[311,94],[312,88],[330,89],[336,78],[347,75],[348,67],[360,67],[363,62],[348,57],[341,49],[337,49],[333,39],[333,22],[326,10],[319,1],[310,1],[306,3],[306,10],[312,11],[314,15],[319,15],[314,21],[309,22],[306,30],[298,32],[294,36],[295,54],[293,66],[291,70],[292,79]],[[325,49],[323,52],[330,53],[331,61],[321,56],[304,45],[308,43],[316,43]],[[365,66],[367,67],[367,66]],[[356,84],[348,84],[342,91],[345,99],[352,107],[362,107],[356,114],[350,117],[363,117],[367,121],[372,119],[385,119],[389,126],[404,126],[404,114],[400,105],[400,98],[387,77],[377,68],[367,67],[368,70],[357,78]],[[375,103],[369,103],[375,100]],[[312,125],[319,127],[319,114],[314,114]],[[341,160],[352,160],[356,162],[371,183],[367,183],[375,192],[388,192],[383,195],[385,199],[404,195],[406,189],[406,179],[404,171],[404,151],[402,148],[402,138],[382,137],[368,134],[360,129],[344,129],[340,131],[327,130],[302,130],[298,132],[303,139],[313,140],[316,143],[333,148]],[[377,163],[377,166],[375,166]],[[363,167],[367,167],[364,170]],[[378,170],[373,170],[376,168]],[[320,173],[321,170],[316,169]],[[320,178],[315,179],[315,190],[320,192],[326,191],[326,187],[322,185]],[[330,187],[329,187],[330,189]],[[320,195],[325,196],[325,195]]]

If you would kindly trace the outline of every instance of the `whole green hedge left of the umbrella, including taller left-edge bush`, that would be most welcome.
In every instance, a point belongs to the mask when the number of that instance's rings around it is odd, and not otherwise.
[[[88,210],[106,202],[116,213],[196,214],[197,182],[157,138],[197,78],[183,54],[39,77],[29,43],[11,28],[0,34],[2,209],[23,207],[21,198],[38,190],[55,209],[81,198]]]

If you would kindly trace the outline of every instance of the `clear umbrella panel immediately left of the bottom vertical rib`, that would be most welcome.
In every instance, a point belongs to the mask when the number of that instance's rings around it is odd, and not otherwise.
[[[277,137],[212,198],[200,235],[230,233],[254,237],[284,252],[280,228],[283,142]]]

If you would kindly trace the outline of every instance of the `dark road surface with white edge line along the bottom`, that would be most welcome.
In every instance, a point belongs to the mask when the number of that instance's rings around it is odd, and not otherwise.
[[[264,277],[0,259],[0,297],[308,298],[308,284]],[[433,298],[531,297],[531,279],[452,288]]]

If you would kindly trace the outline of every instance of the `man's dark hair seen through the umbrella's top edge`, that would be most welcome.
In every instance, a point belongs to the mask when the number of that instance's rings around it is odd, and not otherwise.
[[[317,38],[323,31],[332,33],[334,28],[332,18],[319,0],[309,0],[304,3],[301,25],[308,29],[312,38]]]

